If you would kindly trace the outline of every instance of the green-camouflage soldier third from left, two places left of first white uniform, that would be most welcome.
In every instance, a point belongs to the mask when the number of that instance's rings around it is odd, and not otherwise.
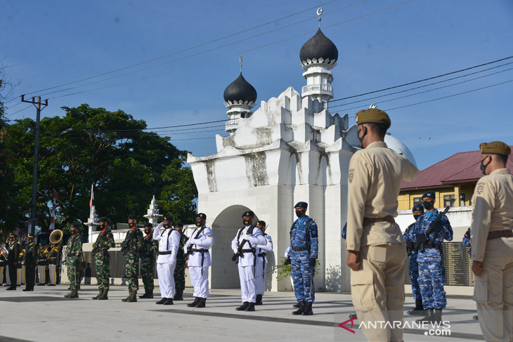
[[[124,255],[124,274],[129,284],[129,296],[122,299],[124,302],[136,302],[139,289],[139,254],[143,248],[143,232],[138,228],[136,215],[129,216],[129,228],[126,232],[121,251]]]

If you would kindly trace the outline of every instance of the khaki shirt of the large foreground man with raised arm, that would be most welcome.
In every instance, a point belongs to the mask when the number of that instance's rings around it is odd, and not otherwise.
[[[396,217],[402,180],[413,181],[418,174],[408,159],[382,141],[353,154],[349,162],[346,250],[359,251],[362,246],[384,242],[405,243],[398,224],[364,226],[363,218]]]

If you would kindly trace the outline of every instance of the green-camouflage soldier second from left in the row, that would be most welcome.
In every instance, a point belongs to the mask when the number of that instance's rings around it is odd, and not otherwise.
[[[96,242],[93,243],[94,263],[96,270],[96,282],[98,282],[98,289],[100,293],[93,297],[93,299],[106,300],[108,299],[109,292],[109,277],[110,277],[110,255],[109,249],[114,247],[114,236],[110,231],[109,219],[101,217],[98,219],[98,228],[101,230]]]

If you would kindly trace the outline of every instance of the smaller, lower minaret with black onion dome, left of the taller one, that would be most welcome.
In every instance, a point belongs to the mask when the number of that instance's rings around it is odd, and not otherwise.
[[[224,105],[228,108],[228,122],[225,125],[225,131],[230,136],[239,126],[240,118],[251,117],[251,109],[257,101],[257,91],[242,77],[242,56],[240,60],[240,75],[224,90]]]

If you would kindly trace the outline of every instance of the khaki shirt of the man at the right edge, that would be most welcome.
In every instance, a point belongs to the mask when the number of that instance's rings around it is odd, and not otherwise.
[[[472,196],[472,255],[483,261],[488,232],[513,229],[513,176],[498,169],[478,180]]]

